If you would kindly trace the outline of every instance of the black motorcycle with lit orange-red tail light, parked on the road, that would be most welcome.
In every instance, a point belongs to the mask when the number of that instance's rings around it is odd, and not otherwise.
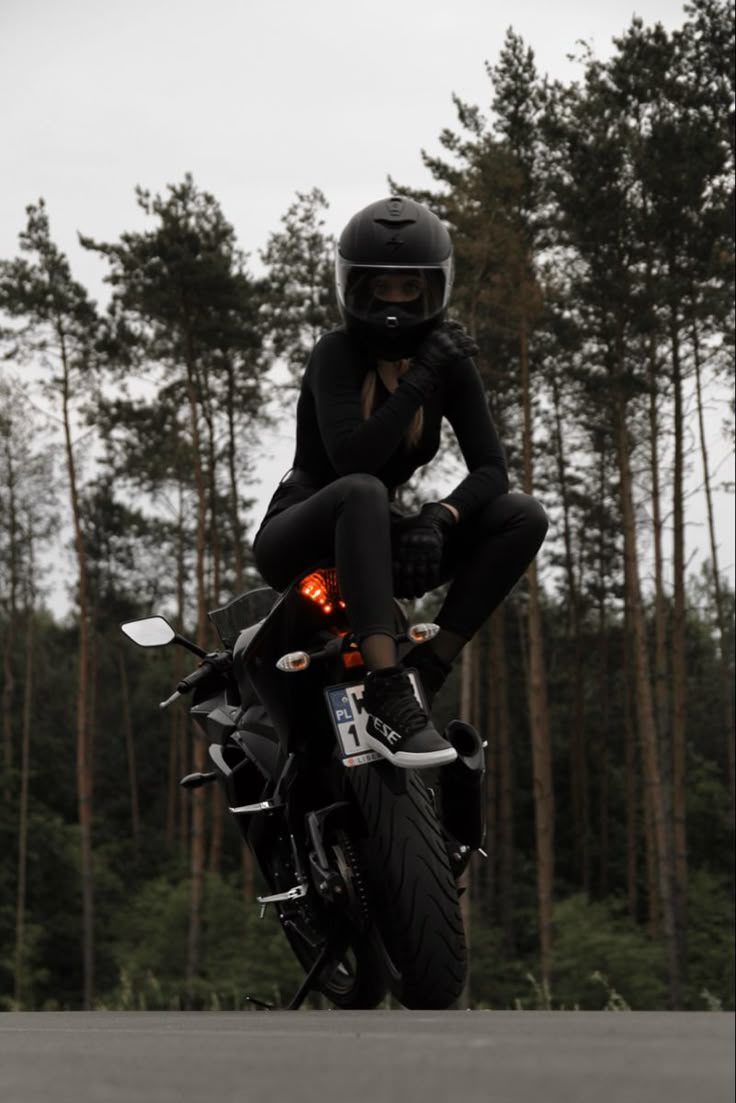
[[[162,617],[121,628],[201,660],[161,707],[193,694],[214,769],[181,784],[224,788],[268,887],[258,901],[276,908],[306,971],[288,1006],[317,989],[341,1008],[375,1007],[387,990],[408,1008],[448,1008],[466,979],[457,879],[483,842],[482,745],[455,720],[445,736],[458,758],[440,770],[398,769],[370,750],[345,613],[334,569],[319,567],[281,595],[252,590],[213,610],[222,651],[203,652]],[[437,631],[408,628],[397,602],[395,614],[399,643]]]

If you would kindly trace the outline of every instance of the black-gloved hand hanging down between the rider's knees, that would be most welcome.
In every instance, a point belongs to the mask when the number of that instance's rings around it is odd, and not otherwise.
[[[445,537],[455,523],[452,513],[439,502],[428,502],[419,513],[397,523],[393,540],[396,597],[420,598],[439,586]]]

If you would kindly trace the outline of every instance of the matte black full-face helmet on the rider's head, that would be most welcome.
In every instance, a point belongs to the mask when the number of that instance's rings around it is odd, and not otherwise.
[[[452,243],[428,207],[393,195],[350,219],[338,242],[335,285],[345,328],[385,360],[410,356],[445,317]]]

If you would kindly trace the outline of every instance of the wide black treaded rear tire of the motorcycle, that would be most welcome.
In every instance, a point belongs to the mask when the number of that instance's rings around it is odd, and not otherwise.
[[[417,773],[388,763],[356,767],[350,780],[392,993],[410,1009],[456,1006],[467,974],[465,929],[431,794]]]

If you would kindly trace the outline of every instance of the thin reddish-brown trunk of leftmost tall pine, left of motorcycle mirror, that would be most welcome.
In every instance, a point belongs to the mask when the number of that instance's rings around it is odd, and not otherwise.
[[[76,699],[76,784],[79,815],[79,850],[82,876],[82,961],[83,961],[83,1006],[89,1010],[95,992],[95,889],[92,860],[92,771],[89,767],[89,733],[87,731],[87,578],[79,495],[76,484],[76,467],[72,447],[70,417],[70,370],[64,333],[58,329],[62,357],[62,406],[66,471],[70,482],[70,501],[74,528],[74,547],[77,560],[77,586],[79,602],[79,656]]]

